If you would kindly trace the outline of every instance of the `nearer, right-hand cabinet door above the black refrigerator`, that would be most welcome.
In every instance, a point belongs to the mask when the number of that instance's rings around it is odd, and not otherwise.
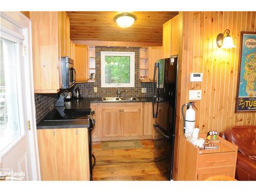
[[[179,51],[179,15],[172,18],[172,36],[170,40],[170,55],[177,55]]]

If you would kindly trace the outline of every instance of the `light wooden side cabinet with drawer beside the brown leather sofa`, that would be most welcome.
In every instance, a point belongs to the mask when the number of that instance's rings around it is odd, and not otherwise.
[[[199,135],[205,139],[206,135]],[[219,148],[200,150],[182,135],[179,140],[177,180],[206,180],[212,176],[234,178],[237,163],[237,145],[220,139]]]

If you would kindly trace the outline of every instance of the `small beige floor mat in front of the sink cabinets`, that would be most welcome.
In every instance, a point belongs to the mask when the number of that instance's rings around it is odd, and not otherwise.
[[[101,141],[102,150],[118,150],[124,148],[141,148],[142,144],[139,140],[124,141]]]

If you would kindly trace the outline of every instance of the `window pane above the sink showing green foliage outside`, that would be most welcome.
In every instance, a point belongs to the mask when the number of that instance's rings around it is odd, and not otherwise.
[[[130,56],[105,56],[105,83],[130,83]]]

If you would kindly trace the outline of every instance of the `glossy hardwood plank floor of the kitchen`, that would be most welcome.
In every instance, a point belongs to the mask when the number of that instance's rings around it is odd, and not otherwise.
[[[93,142],[96,164],[93,180],[163,181],[154,162],[153,140],[140,140],[142,148],[102,150],[100,142]]]

